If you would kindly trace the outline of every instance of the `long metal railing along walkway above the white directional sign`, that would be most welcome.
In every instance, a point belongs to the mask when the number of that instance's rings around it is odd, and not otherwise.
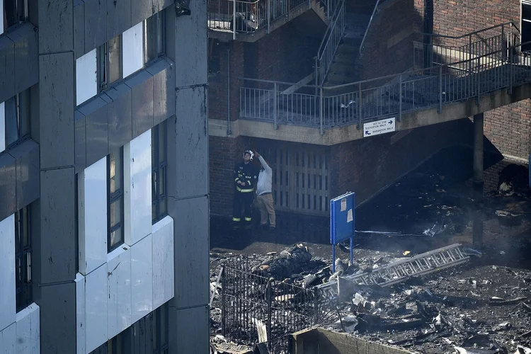
[[[474,46],[476,52],[457,62],[339,86],[306,85],[285,93],[291,83],[243,79],[240,117],[272,122],[275,128],[280,124],[319,127],[324,134],[332,127],[357,124],[361,128],[364,122],[392,116],[401,120],[411,110],[436,106],[440,113],[447,103],[479,101],[484,93],[512,92],[516,84],[531,81],[529,52],[521,52],[521,45],[497,43],[497,48]],[[346,93],[333,94],[340,90]]]

